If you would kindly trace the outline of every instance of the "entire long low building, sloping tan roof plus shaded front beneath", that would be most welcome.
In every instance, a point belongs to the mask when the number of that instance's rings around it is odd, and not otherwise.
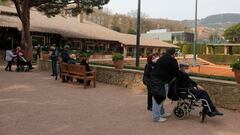
[[[68,44],[74,50],[92,51],[103,55],[120,52],[125,57],[135,56],[135,35],[119,33],[88,21],[79,22],[74,17],[59,15],[48,18],[34,10],[31,11],[30,22],[33,45],[40,44],[49,47],[55,44],[61,48]],[[19,46],[21,30],[22,24],[16,9],[0,6],[0,49],[5,50],[8,46],[12,48]],[[161,53],[166,48],[178,48],[173,44],[146,38],[141,38],[140,46],[143,57],[149,53]]]

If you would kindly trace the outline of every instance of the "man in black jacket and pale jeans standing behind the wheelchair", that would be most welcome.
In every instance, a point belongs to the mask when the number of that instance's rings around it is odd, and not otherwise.
[[[157,61],[151,73],[154,122],[164,122],[167,120],[166,117],[170,116],[170,114],[165,113],[163,102],[168,95],[170,82],[178,75],[179,68],[175,55],[175,48],[167,49],[166,54]]]

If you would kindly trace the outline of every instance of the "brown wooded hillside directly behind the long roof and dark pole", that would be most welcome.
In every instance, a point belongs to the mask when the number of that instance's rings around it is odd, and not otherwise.
[[[136,17],[134,12],[124,15],[112,14],[108,10],[96,10],[93,14],[85,16],[85,19],[122,33],[136,33]],[[142,16],[141,24],[142,33],[158,28],[168,28],[172,31],[191,30],[182,21],[148,18],[147,15]]]

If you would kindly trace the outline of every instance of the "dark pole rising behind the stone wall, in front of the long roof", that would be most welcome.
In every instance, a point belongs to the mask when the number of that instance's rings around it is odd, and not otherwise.
[[[140,36],[141,36],[141,0],[138,0],[137,38],[136,38],[136,67],[140,66]]]

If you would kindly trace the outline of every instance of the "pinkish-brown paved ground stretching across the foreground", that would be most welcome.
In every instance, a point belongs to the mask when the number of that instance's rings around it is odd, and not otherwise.
[[[101,83],[84,90],[46,72],[1,70],[0,135],[240,135],[240,113],[225,109],[204,124],[197,112],[153,123],[146,95],[136,91]]]

